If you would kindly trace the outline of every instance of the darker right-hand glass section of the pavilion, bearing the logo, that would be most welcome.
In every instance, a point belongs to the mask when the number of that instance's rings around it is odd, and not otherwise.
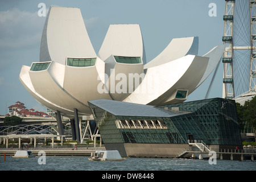
[[[204,139],[207,144],[242,144],[236,102],[233,100],[212,98],[160,107],[179,107],[179,110],[195,113],[195,119],[207,138]]]

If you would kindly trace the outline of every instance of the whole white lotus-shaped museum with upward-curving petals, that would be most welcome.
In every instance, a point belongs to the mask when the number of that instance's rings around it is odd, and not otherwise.
[[[98,99],[167,105],[183,102],[213,71],[224,45],[197,56],[198,37],[173,39],[146,63],[139,24],[112,24],[98,52],[80,9],[51,7],[44,24],[40,62],[23,65],[19,79],[49,109],[90,115]]]

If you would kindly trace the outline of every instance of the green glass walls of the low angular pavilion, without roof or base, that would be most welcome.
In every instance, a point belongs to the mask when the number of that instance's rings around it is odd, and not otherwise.
[[[236,105],[231,100],[216,98],[157,107],[191,112],[173,117],[127,116],[125,108],[123,115],[114,115],[106,107],[88,103],[104,143],[184,144],[199,139],[206,144],[242,144]]]

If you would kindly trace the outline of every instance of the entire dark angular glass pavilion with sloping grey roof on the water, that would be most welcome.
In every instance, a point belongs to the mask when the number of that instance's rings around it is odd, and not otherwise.
[[[166,106],[89,101],[106,150],[122,156],[172,156],[202,140],[211,150],[242,146],[233,100],[212,98]]]

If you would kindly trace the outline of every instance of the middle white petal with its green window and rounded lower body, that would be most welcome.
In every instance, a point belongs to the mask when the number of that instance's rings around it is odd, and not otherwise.
[[[98,56],[106,63],[106,86],[113,100],[122,101],[141,84],[129,83],[129,74],[138,78],[143,71],[144,49],[138,24],[112,24]],[[131,80],[131,79],[130,79]]]

